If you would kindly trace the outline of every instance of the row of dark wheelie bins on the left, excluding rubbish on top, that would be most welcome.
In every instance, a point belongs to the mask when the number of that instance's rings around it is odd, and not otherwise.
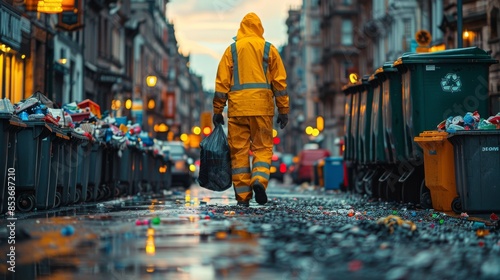
[[[0,212],[51,209],[171,186],[168,155],[0,113]]]

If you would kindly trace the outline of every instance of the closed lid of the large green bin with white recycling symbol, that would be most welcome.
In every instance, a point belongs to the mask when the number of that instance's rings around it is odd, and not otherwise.
[[[495,64],[498,60],[491,57],[489,53],[478,47],[449,49],[429,53],[405,53],[393,64],[394,67],[402,64],[421,63],[487,63]]]

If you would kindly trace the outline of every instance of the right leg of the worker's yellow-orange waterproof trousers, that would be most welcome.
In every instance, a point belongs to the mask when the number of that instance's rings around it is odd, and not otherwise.
[[[250,118],[250,149],[254,158],[252,162],[251,185],[259,181],[267,189],[271,158],[273,156],[273,116],[253,116]]]

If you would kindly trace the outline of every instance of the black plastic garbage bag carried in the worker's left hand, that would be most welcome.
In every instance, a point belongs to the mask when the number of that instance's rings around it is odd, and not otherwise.
[[[200,143],[198,184],[212,191],[225,191],[232,185],[229,144],[221,124]]]

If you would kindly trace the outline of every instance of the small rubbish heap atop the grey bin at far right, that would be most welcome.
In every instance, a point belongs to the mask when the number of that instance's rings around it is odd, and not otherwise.
[[[438,131],[493,130],[500,129],[500,112],[487,119],[481,118],[477,111],[467,112],[464,116],[450,116],[437,125]]]

